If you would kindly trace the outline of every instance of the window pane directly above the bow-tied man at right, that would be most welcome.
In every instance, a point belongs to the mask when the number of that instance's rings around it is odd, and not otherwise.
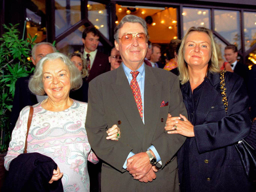
[[[241,48],[240,15],[238,11],[214,10],[215,31],[230,44]]]

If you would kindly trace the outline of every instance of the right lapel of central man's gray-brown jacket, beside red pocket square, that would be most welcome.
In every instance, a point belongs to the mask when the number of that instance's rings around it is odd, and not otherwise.
[[[144,122],[145,133],[143,149],[149,147],[148,144],[154,136],[157,118],[161,105],[162,82],[157,81],[152,68],[145,65],[145,84],[144,84]],[[159,120],[160,121],[160,120]]]

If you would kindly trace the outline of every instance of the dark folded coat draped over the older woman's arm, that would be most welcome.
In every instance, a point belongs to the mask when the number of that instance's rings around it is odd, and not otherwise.
[[[63,191],[61,179],[48,182],[57,164],[40,153],[23,153],[12,160],[2,191]]]

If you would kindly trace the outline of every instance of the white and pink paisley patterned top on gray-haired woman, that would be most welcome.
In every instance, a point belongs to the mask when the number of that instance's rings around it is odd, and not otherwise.
[[[64,192],[89,191],[87,159],[92,163],[97,163],[98,159],[91,151],[84,127],[87,103],[74,100],[70,108],[60,112],[45,110],[41,103],[33,107],[27,152],[41,153],[56,162],[63,172]],[[28,114],[29,106],[26,106],[14,127],[4,162],[6,170],[12,159],[24,151]]]

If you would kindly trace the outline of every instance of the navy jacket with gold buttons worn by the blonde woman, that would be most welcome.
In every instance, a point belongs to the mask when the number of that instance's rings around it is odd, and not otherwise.
[[[188,83],[181,86],[187,111]],[[220,74],[208,73],[195,111],[195,137],[187,139],[178,152],[181,191],[251,191],[233,145],[250,132],[246,87],[242,78],[231,72],[225,73],[225,83],[227,114]]]

